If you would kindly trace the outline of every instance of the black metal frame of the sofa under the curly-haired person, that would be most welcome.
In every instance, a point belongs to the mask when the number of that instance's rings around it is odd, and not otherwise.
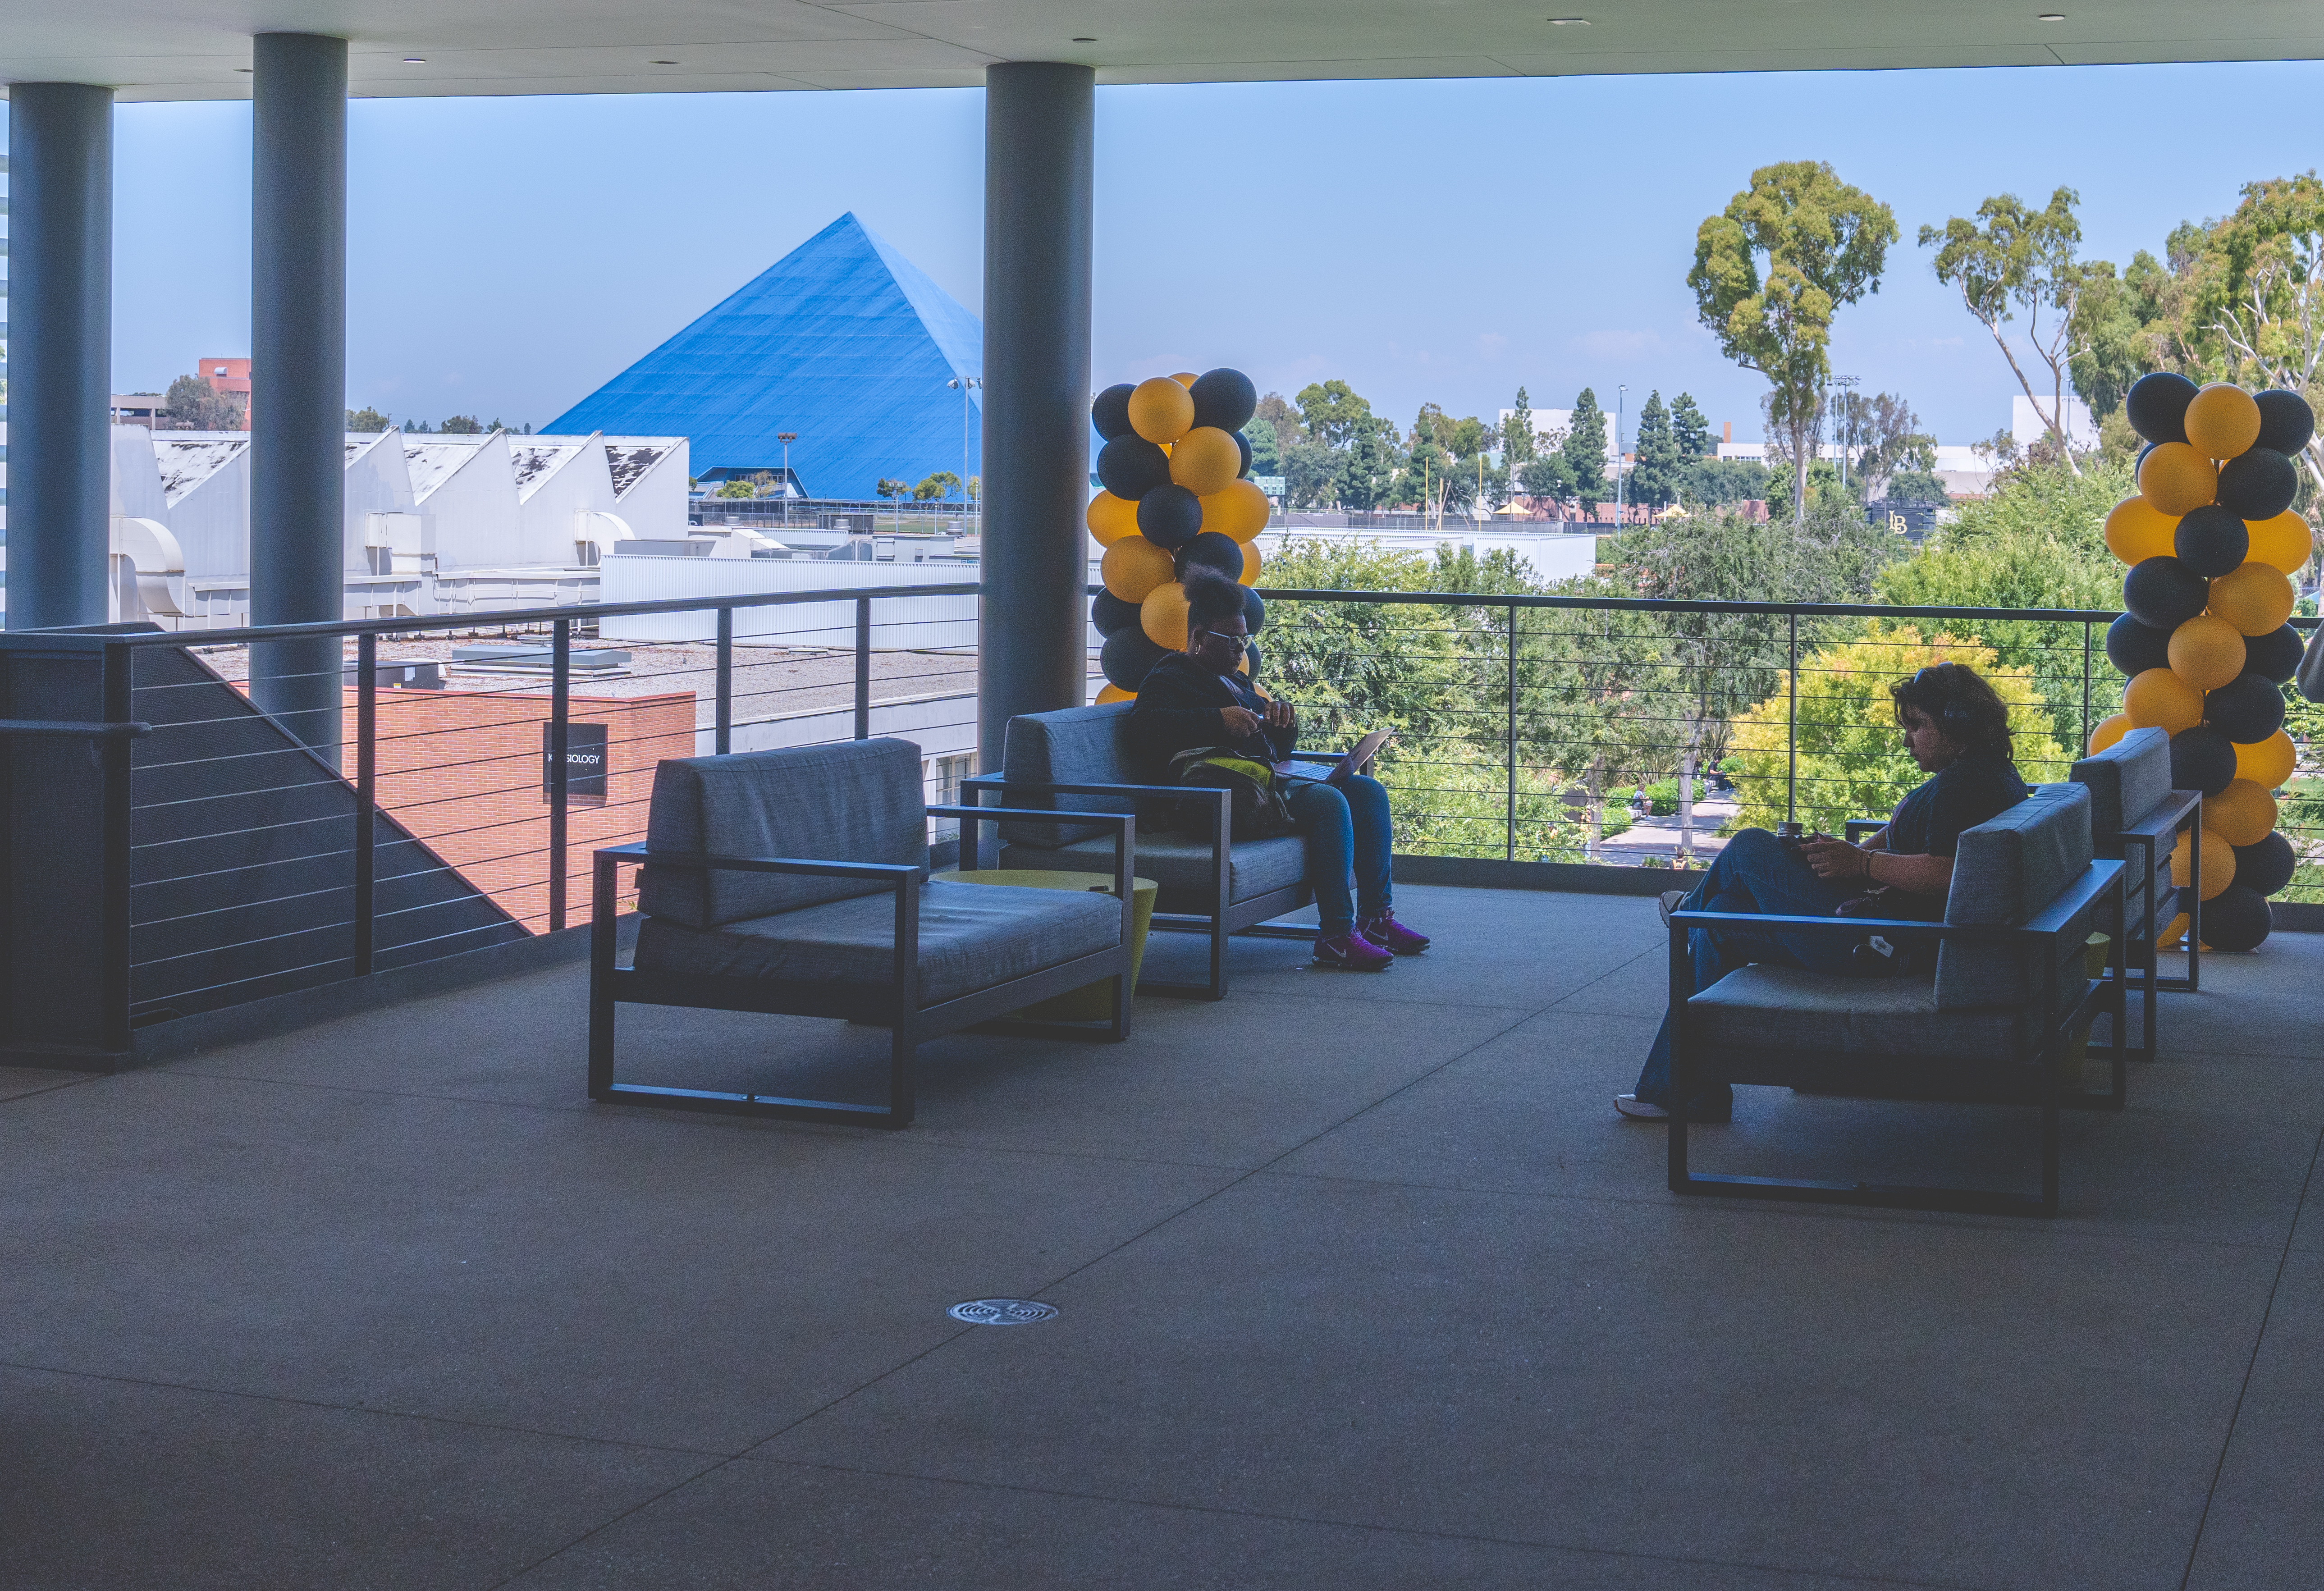
[[[2059,1110],[2122,1110],[2124,1050],[2119,1045],[2126,1015],[2124,948],[2115,941],[2110,971],[2103,980],[2085,978],[2080,999],[2064,1003],[2054,941],[2082,910],[2113,894],[2122,908],[2122,862],[2092,862],[2082,876],[2022,927],[1901,922],[1885,917],[1771,917],[1757,913],[1673,910],[1671,913],[1671,1099],[1694,1099],[1706,1085],[1773,1085],[1810,1094],[1848,1094],[1857,1099],[1906,1099],[1973,1106],[2040,1108],[2040,1196],[1908,1187],[1889,1182],[1815,1182],[1785,1178],[1731,1178],[1687,1168],[1687,1113],[1671,1110],[1669,1182],[1673,1194],[1715,1194],[1724,1198],[1792,1198],[1806,1203],[1880,1205],[1889,1210],[1954,1210],[1971,1215],[2057,1215],[2057,1117]],[[1896,941],[1952,941],[1973,945],[2024,945],[2043,964],[2036,1010],[2061,1015],[2036,1027],[2029,1043],[2008,1061],[1966,1061],[1950,1057],[1866,1057],[1845,1050],[1762,1050],[1722,1045],[1694,1054],[1687,1036],[1694,994],[1694,962],[1687,929],[1734,927],[1752,934],[1827,934],[1862,938],[1880,934]],[[2113,1089],[2106,1094],[2066,1089],[2057,1078],[2057,1057],[2073,1034],[2101,1015],[2115,1020]]]

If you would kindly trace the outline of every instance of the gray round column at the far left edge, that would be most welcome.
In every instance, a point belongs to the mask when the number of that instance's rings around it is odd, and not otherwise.
[[[7,627],[102,625],[114,91],[9,88]]]

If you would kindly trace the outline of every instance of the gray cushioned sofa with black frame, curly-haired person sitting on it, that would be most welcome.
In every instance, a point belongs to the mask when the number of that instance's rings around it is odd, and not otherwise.
[[[2040,1110],[2040,1194],[1703,1175],[1687,1166],[1685,1113],[1671,1113],[1669,1182],[1680,1194],[1808,1198],[1920,1210],[2057,1212],[2061,1108],[2119,1108],[2113,1089],[2080,1087],[2089,1024],[2124,1015],[2122,952],[2106,980],[2085,973],[2085,938],[2101,910],[2122,910],[2122,862],[2094,859],[2089,792],[2047,785],[1961,834],[1945,920],[1764,917],[1671,913],[1671,1092],[1715,1082],[1817,1094],[2020,1103]],[[1848,978],[1745,966],[1690,994],[1690,927],[1769,929],[1889,941],[1936,941],[1936,971]]]

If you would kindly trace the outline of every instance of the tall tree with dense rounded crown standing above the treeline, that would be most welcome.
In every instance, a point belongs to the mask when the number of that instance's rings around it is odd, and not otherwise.
[[[1694,235],[1694,307],[1720,351],[1773,388],[1769,418],[1794,460],[1815,458],[1831,376],[1831,316],[1880,290],[1896,216],[1822,160],[1764,165]],[[1806,476],[1792,516],[1806,518]]]

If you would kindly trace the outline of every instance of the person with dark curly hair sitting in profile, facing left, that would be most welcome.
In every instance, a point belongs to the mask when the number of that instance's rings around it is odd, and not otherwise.
[[[1792,838],[1743,829],[1727,841],[1694,890],[1671,890],[1662,897],[1664,922],[1673,910],[1943,920],[1961,829],[2001,815],[2031,790],[2010,759],[2008,708],[1973,669],[1941,662],[1892,683],[1889,697],[1906,750],[1931,778],[1896,804],[1887,825],[1862,845],[1829,834]],[[1857,948],[1834,934],[1687,929],[1687,948],[1694,957],[1697,994],[1752,962],[1817,973],[1864,971]],[[1669,1120],[1669,1013],[1634,1092],[1615,1094],[1613,1108],[1629,1120]],[[1685,1108],[1690,1122],[1724,1122],[1734,1115],[1734,1089],[1722,1082],[1685,1101]]]

